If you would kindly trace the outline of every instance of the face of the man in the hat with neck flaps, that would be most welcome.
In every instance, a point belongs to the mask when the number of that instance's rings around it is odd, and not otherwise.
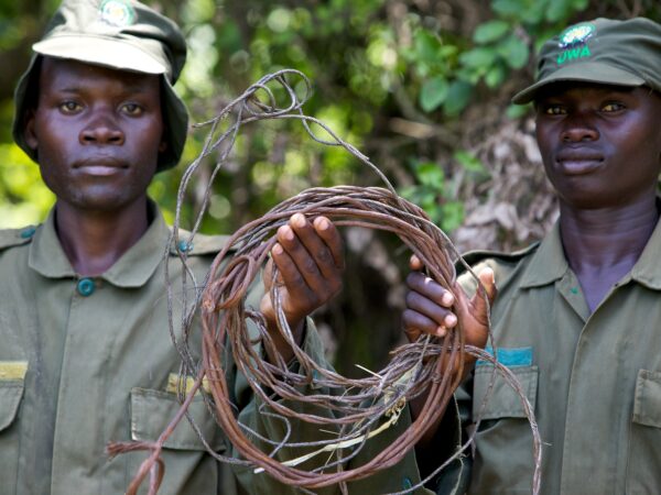
[[[159,76],[45,57],[25,139],[58,202],[108,212],[144,200],[165,150]]]

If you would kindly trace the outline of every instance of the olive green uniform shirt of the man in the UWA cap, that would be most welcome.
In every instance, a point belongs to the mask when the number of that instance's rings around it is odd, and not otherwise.
[[[661,493],[661,227],[631,273],[590,315],[560,230],[489,265],[498,359],[534,407],[543,442],[543,494]],[[468,278],[464,276],[464,282]],[[477,363],[456,397],[476,417],[492,366]],[[517,394],[497,378],[475,442],[470,493],[530,493],[532,432]],[[468,465],[470,468],[470,465]]]

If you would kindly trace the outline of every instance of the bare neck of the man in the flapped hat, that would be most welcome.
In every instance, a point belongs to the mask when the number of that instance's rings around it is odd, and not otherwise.
[[[77,274],[97,276],[110,268],[149,227],[147,197],[119,211],[82,210],[58,201],[57,237]]]

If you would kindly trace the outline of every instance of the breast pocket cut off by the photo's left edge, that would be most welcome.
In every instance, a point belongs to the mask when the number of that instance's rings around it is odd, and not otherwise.
[[[0,380],[0,480],[2,493],[15,493],[19,470],[19,409],[23,397],[23,380]]]

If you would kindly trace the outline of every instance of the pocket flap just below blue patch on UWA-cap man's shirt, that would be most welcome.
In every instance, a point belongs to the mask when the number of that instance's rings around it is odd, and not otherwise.
[[[534,408],[538,387],[538,366],[513,366],[509,369],[521,385],[522,392]],[[492,374],[494,389],[483,408],[483,399],[489,389]],[[492,365],[476,366],[474,377],[473,419],[525,418],[521,397]]]

